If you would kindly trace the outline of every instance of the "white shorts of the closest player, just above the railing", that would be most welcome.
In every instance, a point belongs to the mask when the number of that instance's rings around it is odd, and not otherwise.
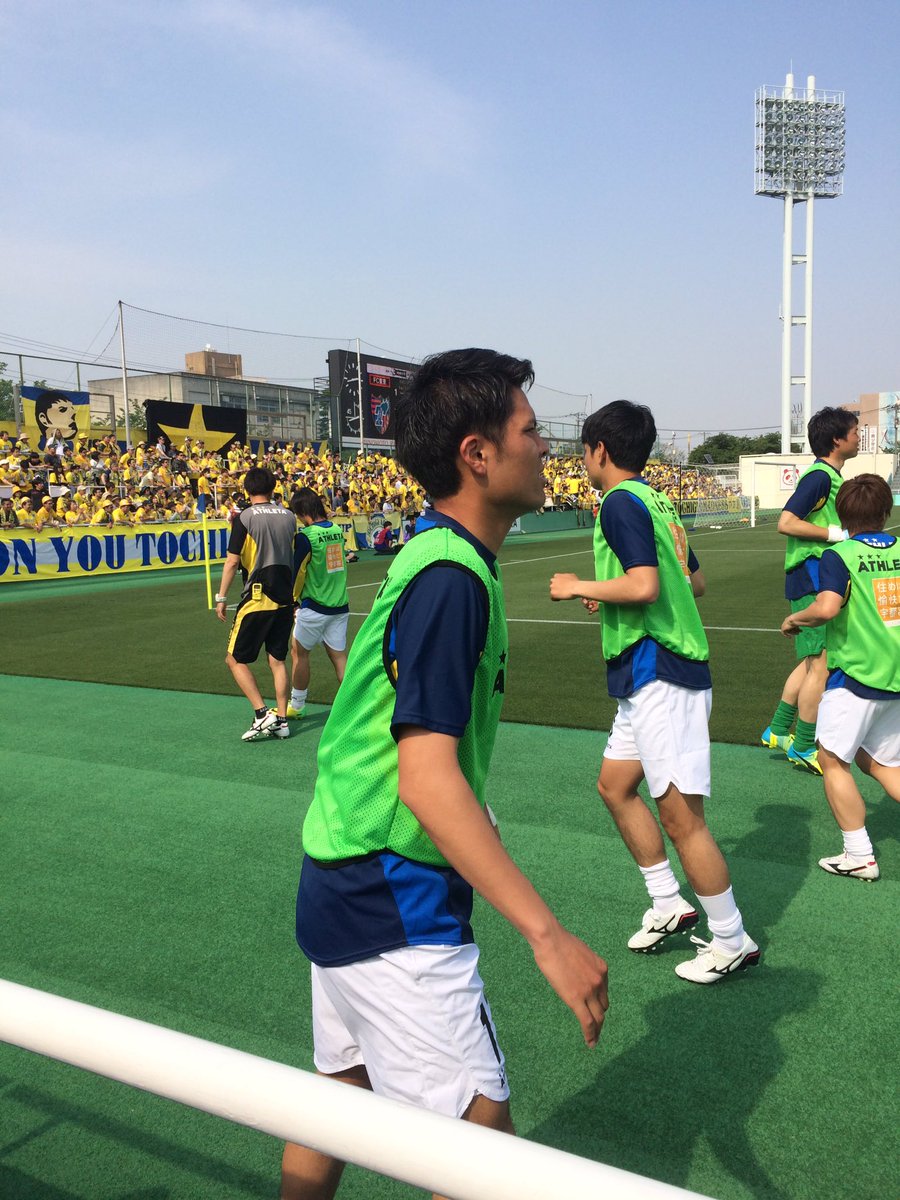
[[[475,1096],[509,1098],[476,946],[404,946],[312,967],[316,1067],[365,1066],[379,1096],[461,1117]]]

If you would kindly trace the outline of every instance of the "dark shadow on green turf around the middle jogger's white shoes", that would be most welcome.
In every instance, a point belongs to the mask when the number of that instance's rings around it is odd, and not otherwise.
[[[673,978],[672,991],[642,1009],[643,1036],[601,1062],[589,1087],[541,1124],[522,1130],[526,1136],[710,1195],[734,1194],[738,1184],[740,1195],[788,1200],[769,1177],[761,1150],[792,1134],[763,1128],[754,1139],[750,1123],[785,1062],[779,1021],[810,1009],[823,983],[815,971],[766,965],[769,936],[815,869],[811,812],[798,804],[764,804],[755,818],[752,829],[731,844],[724,840],[722,848],[746,926],[763,950],[761,966],[715,986]],[[671,949],[683,950],[684,943]],[[647,970],[671,971],[660,961],[668,956],[648,955]],[[617,995],[616,1003],[626,1004],[628,997]],[[721,1172],[707,1166],[692,1176],[701,1144],[712,1150]],[[810,1152],[815,1147],[806,1147]]]

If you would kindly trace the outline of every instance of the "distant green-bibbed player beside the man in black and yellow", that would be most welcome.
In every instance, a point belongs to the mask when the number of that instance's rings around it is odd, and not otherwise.
[[[347,666],[347,556],[343,529],[328,520],[322,499],[310,487],[290,497],[290,511],[304,527],[294,548],[299,563],[294,595],[300,601],[290,642],[293,661],[289,718],[304,715],[310,691],[310,650],[319,642],[338,684]]]

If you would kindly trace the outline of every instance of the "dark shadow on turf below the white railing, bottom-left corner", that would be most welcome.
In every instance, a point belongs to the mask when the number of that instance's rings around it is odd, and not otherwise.
[[[76,1126],[102,1141],[118,1142],[124,1153],[140,1153],[148,1158],[158,1159],[163,1164],[161,1170],[168,1171],[175,1169],[184,1171],[211,1182],[222,1189],[240,1190],[247,1196],[270,1198],[272,1195],[275,1184],[269,1177],[257,1175],[239,1166],[230,1166],[220,1158],[214,1157],[214,1154],[204,1154],[187,1146],[180,1146],[166,1138],[161,1138],[158,1134],[150,1133],[145,1128],[130,1124],[125,1121],[118,1121],[106,1114],[94,1112],[77,1104],[71,1104],[59,1096],[53,1096],[41,1088],[19,1084],[6,1091],[4,1099],[31,1109],[35,1120],[28,1133],[17,1138],[14,1142],[0,1145],[0,1157],[8,1157],[25,1145],[36,1142],[37,1158],[40,1159],[41,1139],[48,1138],[47,1145],[50,1147],[55,1142],[55,1132],[59,1127]],[[53,1150],[48,1148],[47,1154],[53,1154]],[[114,1163],[113,1157],[108,1159],[108,1163],[112,1168]],[[7,1180],[5,1176],[8,1175],[10,1168],[0,1164],[0,1184],[6,1186]],[[14,1169],[12,1170],[12,1177],[16,1178],[16,1190],[1,1190],[0,1195],[16,1196],[16,1200],[56,1200],[56,1198],[62,1200],[62,1198],[74,1195],[70,1192],[60,1192],[48,1183]],[[162,1198],[172,1194],[170,1184],[140,1188],[137,1192],[132,1189],[131,1192],[116,1193],[114,1189],[115,1181],[112,1178],[97,1180],[96,1183],[97,1195],[101,1194],[102,1188],[104,1196],[115,1198],[115,1200],[156,1200],[157,1196]]]

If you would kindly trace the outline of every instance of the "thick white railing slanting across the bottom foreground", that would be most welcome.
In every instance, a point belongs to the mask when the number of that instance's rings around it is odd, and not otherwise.
[[[0,1040],[454,1200],[696,1195],[6,980],[0,980]]]

